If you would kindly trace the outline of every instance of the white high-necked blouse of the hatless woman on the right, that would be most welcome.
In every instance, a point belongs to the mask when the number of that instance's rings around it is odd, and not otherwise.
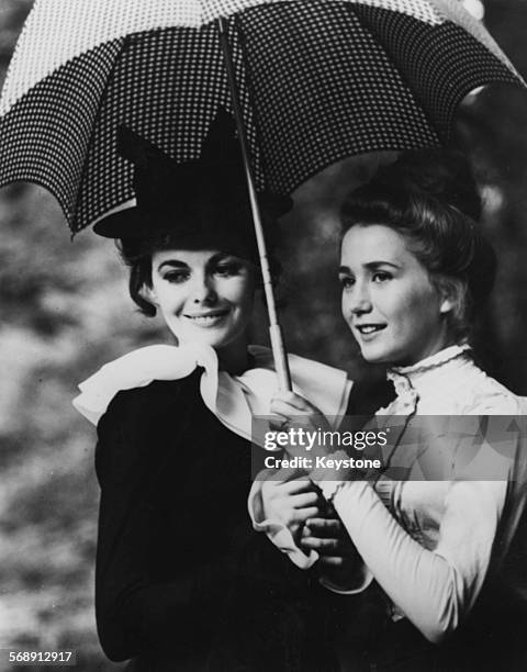
[[[468,346],[452,346],[415,366],[390,371],[397,396],[378,412],[378,419],[518,416],[520,399],[479,369],[467,350]],[[519,434],[513,440],[518,448]],[[425,451],[435,449],[425,447]],[[496,536],[514,464],[511,455],[484,443],[480,452],[468,469],[486,468],[493,480],[471,480],[469,471],[463,478],[462,470],[452,480],[413,480],[418,478],[415,462],[404,481],[380,480],[375,485],[347,481],[337,489],[329,480],[319,483],[333,496],[371,575],[392,600],[394,618],[406,616],[435,642],[461,623],[492,562],[497,565],[507,550],[496,544]],[[525,507],[525,496],[517,505]]]

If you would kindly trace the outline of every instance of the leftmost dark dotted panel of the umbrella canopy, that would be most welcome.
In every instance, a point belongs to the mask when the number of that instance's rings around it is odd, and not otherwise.
[[[1,184],[21,179],[40,183],[55,194],[68,221],[74,221],[100,100],[120,51],[115,42],[67,64],[2,120]]]

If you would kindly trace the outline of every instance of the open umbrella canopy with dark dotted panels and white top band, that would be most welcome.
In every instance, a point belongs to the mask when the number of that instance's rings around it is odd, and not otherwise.
[[[234,88],[256,189],[290,193],[350,155],[446,142],[490,82],[522,80],[457,0],[35,0],[0,101],[0,186],[43,184],[78,232],[133,204],[119,125],[188,160]]]

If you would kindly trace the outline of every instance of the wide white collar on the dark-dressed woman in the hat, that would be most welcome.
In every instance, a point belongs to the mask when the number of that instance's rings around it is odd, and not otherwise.
[[[210,346],[146,346],[104,365],[80,383],[81,394],[72,403],[97,425],[121,390],[146,387],[154,380],[178,380],[202,367],[200,392],[205,405],[232,432],[251,440],[253,416],[269,415],[278,383],[270,350],[250,346],[249,354],[256,366],[231,376],[218,370],[217,355]],[[294,391],[318,407],[336,428],[351,387],[346,372],[296,355],[289,355],[289,363]]]

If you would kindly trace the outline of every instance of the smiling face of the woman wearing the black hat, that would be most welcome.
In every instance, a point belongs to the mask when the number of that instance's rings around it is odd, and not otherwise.
[[[255,294],[249,262],[218,250],[156,251],[146,292],[179,341],[245,347]]]

